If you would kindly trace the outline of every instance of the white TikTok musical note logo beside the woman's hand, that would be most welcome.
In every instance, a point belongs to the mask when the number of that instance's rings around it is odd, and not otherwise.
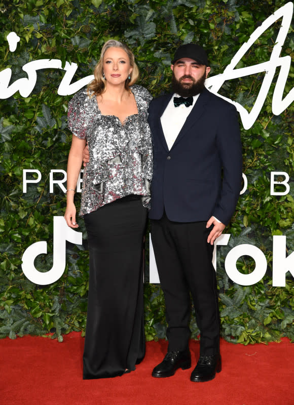
[[[30,245],[22,256],[22,271],[35,284],[45,286],[57,281],[65,269],[66,240],[72,244],[82,245],[82,232],[77,232],[67,226],[63,217],[53,220],[53,267],[46,273],[41,273],[34,267],[34,259],[38,255],[47,254],[47,242],[40,241]]]

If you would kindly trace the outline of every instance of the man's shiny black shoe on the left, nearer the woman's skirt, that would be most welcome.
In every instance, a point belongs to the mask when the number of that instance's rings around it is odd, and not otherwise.
[[[173,376],[177,369],[190,369],[191,353],[187,349],[185,351],[170,351],[167,352],[163,361],[155,367],[152,372],[152,377],[162,378]]]

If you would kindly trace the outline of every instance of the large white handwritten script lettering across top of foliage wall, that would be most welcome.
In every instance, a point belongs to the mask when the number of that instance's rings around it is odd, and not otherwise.
[[[224,98],[225,100],[236,106],[237,110],[240,113],[243,127],[246,130],[251,128],[255,120],[258,118],[278,66],[280,66],[280,72],[277,78],[277,83],[275,85],[272,99],[273,114],[281,114],[294,100],[294,88],[290,90],[290,92],[285,96],[284,99],[282,99],[283,91],[290,69],[291,57],[289,55],[283,57],[279,56],[291,24],[292,14],[293,3],[288,2],[284,6],[279,8],[273,15],[268,17],[260,27],[255,29],[255,31],[250,35],[248,42],[244,43],[241,46],[241,48],[233,57],[231,63],[226,67],[223,73],[216,76],[208,77],[206,79],[206,87],[208,87],[212,93],[218,94],[218,90],[223,86],[226,80],[265,72],[265,77],[260,92],[250,112],[248,112],[240,103],[219,95],[219,97]],[[270,60],[267,62],[258,63],[253,66],[235,69],[236,65],[249,50],[249,48],[254,44],[254,42],[281,17],[281,28],[277,35]],[[9,35],[11,36],[9,37]],[[14,32],[11,32],[9,35],[7,36],[7,39],[9,41],[10,51],[13,52],[13,50],[15,50],[16,48],[17,38],[15,37],[16,34]],[[58,94],[61,96],[76,93],[82,87],[86,86],[94,77],[93,75],[89,75],[78,80],[75,83],[70,84],[71,79],[78,68],[78,65],[76,63],[66,62],[64,68],[62,68],[62,63],[59,59],[40,59],[26,63],[22,69],[27,73],[28,77],[18,79],[10,86],[9,82],[11,79],[12,71],[10,68],[2,70],[0,72],[0,98],[6,99],[8,97],[11,97],[17,91],[19,91],[22,97],[28,97],[36,84],[36,71],[48,68],[65,70],[65,75],[58,88]]]

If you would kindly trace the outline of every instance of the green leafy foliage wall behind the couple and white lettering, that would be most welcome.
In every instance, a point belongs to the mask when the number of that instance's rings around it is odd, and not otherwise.
[[[209,52],[211,75],[222,73],[249,35],[275,10],[280,0],[0,0],[0,70],[10,67],[10,84],[27,77],[22,66],[37,59],[61,59],[79,66],[73,82],[92,74],[102,44],[109,38],[125,41],[140,68],[139,84],[157,96],[169,90],[170,59],[182,43],[199,42]],[[267,61],[276,42],[281,20],[273,24],[247,52],[237,67]],[[15,31],[20,42],[9,52],[6,36]],[[293,52],[293,31],[289,30],[281,56]],[[293,277],[285,288],[272,287],[272,236],[286,235],[287,255],[294,247],[294,143],[293,110],[275,116],[271,103],[274,82],[255,124],[242,129],[244,169],[248,189],[240,197],[226,233],[229,245],[218,249],[217,277],[222,336],[232,342],[254,343],[294,338]],[[22,273],[21,257],[33,242],[52,240],[53,216],[62,216],[65,197],[58,187],[49,192],[51,169],[66,170],[71,135],[66,128],[67,103],[72,96],[59,96],[61,69],[38,71],[29,97],[18,92],[1,100],[0,120],[0,335],[43,335],[85,331],[88,283],[87,241],[83,246],[67,245],[63,276],[49,286],[36,286]],[[284,97],[291,90],[291,68]],[[248,111],[258,95],[263,74],[226,82],[219,93],[241,103]],[[22,192],[22,171],[38,169],[42,180]],[[270,195],[270,172],[290,176],[290,192]],[[85,229],[80,221],[81,230]],[[148,238],[146,238],[148,239]],[[227,253],[239,244],[259,247],[268,262],[264,278],[253,286],[234,284],[224,270]],[[40,271],[52,266],[53,246],[40,255]],[[238,269],[250,273],[254,261],[238,260]],[[146,263],[148,281],[148,263]],[[165,336],[164,299],[159,286],[145,284],[145,332],[148,340]],[[192,337],[197,338],[195,317]]]

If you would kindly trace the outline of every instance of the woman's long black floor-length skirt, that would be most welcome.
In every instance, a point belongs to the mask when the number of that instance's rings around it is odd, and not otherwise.
[[[143,236],[147,210],[129,195],[84,216],[90,277],[83,378],[135,370],[145,354]]]

